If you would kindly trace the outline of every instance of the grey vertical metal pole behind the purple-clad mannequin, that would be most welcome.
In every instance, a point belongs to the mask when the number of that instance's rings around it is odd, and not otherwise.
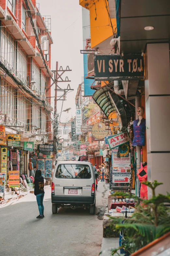
[[[136,98],[135,98],[135,110],[136,110],[136,120],[138,119],[138,115],[137,115],[137,108],[140,107],[140,93],[139,91],[137,91],[136,94]],[[136,171],[140,168],[140,163],[141,163],[141,146],[136,146]],[[138,195],[138,191],[139,191],[139,179],[137,179],[136,177],[136,188],[135,188],[135,192],[136,192],[136,196]]]

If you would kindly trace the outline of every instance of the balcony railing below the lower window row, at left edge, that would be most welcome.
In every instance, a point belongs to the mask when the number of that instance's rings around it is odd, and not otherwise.
[[[13,127],[21,131],[28,131],[29,124],[25,124],[18,119],[15,119],[7,114],[0,113],[0,124],[7,125],[9,127]]]

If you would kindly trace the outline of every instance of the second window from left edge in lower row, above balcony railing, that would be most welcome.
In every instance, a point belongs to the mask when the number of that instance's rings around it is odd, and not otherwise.
[[[17,94],[17,120],[27,123],[27,99],[22,94]]]

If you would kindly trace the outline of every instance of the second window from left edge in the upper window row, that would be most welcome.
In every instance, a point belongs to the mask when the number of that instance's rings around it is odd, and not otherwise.
[[[21,46],[17,46],[17,71],[27,80],[27,56],[26,53],[21,50]]]

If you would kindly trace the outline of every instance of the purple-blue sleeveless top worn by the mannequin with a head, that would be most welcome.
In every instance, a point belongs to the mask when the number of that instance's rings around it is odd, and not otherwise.
[[[139,126],[137,125],[139,119],[134,120],[134,139],[133,146],[145,146],[145,130],[146,130],[146,120],[144,118],[141,119]]]

